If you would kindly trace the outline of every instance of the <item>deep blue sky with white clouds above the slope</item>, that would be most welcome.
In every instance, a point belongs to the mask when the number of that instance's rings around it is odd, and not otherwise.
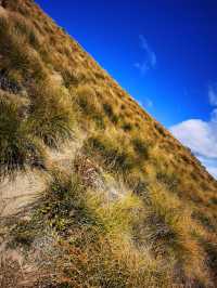
[[[37,2],[217,175],[216,0]]]

